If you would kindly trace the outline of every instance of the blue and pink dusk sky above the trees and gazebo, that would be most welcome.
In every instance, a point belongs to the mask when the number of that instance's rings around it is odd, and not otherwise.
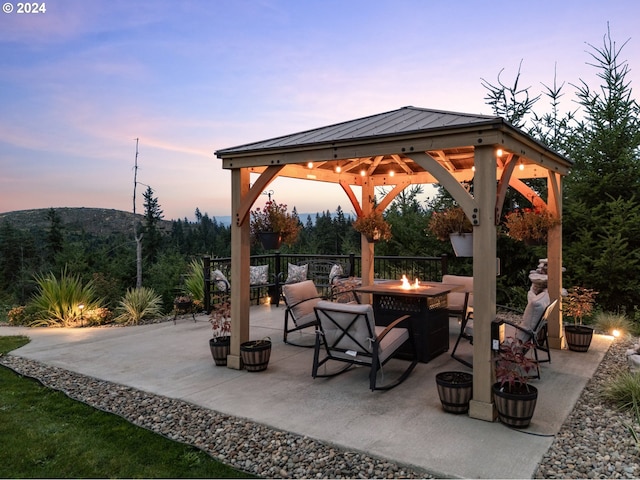
[[[556,69],[572,108],[568,84],[599,85],[588,44],[602,46],[607,22],[629,40],[637,88],[638,18],[637,0],[50,0],[0,13],[0,212],[131,211],[139,138],[138,180],[165,218],[230,215],[218,149],[407,105],[491,114],[481,79],[511,81],[520,61],[533,93]],[[299,212],[348,205],[331,186],[270,188]]]

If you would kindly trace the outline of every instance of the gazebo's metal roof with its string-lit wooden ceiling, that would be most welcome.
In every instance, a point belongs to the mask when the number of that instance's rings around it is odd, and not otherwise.
[[[501,117],[416,107],[226,148],[216,156],[226,169],[262,173],[283,166],[279,176],[351,185],[366,176],[387,185],[437,182],[412,158],[427,153],[456,180],[468,182],[475,148],[486,145],[496,148],[498,175],[509,161],[520,165],[512,173],[519,179],[546,177],[547,170],[566,175],[572,165]]]

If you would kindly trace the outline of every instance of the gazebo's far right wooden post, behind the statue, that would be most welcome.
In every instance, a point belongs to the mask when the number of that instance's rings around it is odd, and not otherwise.
[[[548,197],[547,204],[549,212],[556,218],[562,219],[562,175],[549,171],[548,174]],[[553,226],[549,230],[547,239],[547,288],[549,298],[553,302],[559,300],[562,305],[562,224]],[[556,308],[551,313],[548,322],[549,346],[555,349],[563,347],[562,331],[562,308]]]

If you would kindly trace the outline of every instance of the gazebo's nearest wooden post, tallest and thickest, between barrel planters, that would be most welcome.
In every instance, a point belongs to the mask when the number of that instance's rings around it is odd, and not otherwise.
[[[496,316],[496,158],[493,146],[475,148],[474,193],[479,225],[473,227],[473,398],[469,416],[496,418],[491,385],[494,365],[491,323]]]

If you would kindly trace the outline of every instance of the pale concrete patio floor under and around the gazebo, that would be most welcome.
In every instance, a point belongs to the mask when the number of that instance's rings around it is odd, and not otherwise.
[[[313,349],[282,343],[284,308],[250,310],[251,338],[270,337],[264,372],[216,367],[209,352],[208,317],[127,328],[28,329],[1,327],[0,335],[27,335],[31,343],[13,355],[178,398],[218,412],[306,435],[344,449],[366,452],[438,477],[531,478],[611,338],[595,335],[587,353],[552,351],[530,427],[445,413],[435,374],[470,371],[448,353],[420,363],[409,379],[388,392],[371,392],[365,369],[313,379]],[[450,345],[458,326],[451,320]],[[311,343],[312,333],[300,340]],[[460,350],[471,354],[467,342]],[[393,362],[396,362],[394,360]],[[393,363],[392,362],[392,363]],[[401,361],[397,361],[401,362]],[[393,365],[385,374],[393,374]]]

